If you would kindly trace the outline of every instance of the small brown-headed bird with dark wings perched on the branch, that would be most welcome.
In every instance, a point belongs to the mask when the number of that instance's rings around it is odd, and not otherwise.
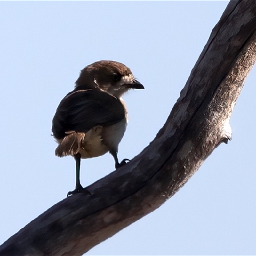
[[[76,161],[76,186],[67,196],[83,192],[80,183],[81,159],[109,152],[119,163],[118,145],[124,136],[128,112],[122,95],[130,89],[144,89],[130,68],[113,60],[96,61],[80,71],[75,88],[57,107],[52,120],[52,135],[58,146],[55,155],[73,156]]]

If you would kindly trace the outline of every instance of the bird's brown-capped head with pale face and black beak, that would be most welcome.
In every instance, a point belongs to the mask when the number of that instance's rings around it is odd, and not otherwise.
[[[129,89],[144,89],[130,68],[111,60],[94,62],[81,70],[75,89],[99,88],[119,98]]]

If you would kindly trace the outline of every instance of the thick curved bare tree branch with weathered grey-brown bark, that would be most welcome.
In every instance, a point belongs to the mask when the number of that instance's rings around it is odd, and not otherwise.
[[[0,255],[82,255],[174,195],[231,139],[229,120],[256,59],[256,2],[232,0],[156,138],[90,194],[65,198],[0,246]]]

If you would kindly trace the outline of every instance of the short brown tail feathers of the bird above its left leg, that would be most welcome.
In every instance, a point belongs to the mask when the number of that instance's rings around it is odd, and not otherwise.
[[[59,157],[74,156],[82,148],[85,133],[70,132],[59,144],[55,150],[55,155]]]

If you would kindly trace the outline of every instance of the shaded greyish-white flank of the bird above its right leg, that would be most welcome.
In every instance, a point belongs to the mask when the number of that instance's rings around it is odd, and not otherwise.
[[[118,144],[124,136],[124,132],[127,126],[127,119],[124,118],[121,122],[104,127],[102,131],[103,143],[109,150],[118,150]]]

